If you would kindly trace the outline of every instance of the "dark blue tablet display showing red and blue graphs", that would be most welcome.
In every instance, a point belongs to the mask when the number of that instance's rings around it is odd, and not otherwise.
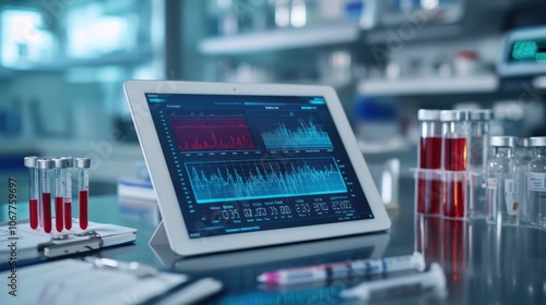
[[[145,95],[190,239],[373,218],[323,97]]]

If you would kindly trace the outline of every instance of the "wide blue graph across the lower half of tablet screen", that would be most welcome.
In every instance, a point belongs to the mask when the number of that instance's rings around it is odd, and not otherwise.
[[[345,193],[334,158],[188,162],[198,204]]]

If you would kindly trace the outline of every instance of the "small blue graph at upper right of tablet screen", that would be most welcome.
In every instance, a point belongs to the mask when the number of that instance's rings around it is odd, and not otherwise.
[[[256,111],[259,129],[268,149],[331,149],[332,142],[321,130],[312,111]]]

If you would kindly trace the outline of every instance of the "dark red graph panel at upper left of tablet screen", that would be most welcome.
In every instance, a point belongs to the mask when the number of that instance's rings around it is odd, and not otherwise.
[[[237,150],[256,148],[245,118],[171,117],[178,148],[190,150]]]

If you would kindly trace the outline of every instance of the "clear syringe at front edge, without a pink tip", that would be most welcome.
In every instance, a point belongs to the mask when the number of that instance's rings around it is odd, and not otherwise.
[[[354,288],[343,290],[343,298],[369,300],[411,292],[422,292],[427,289],[446,288],[446,274],[438,263],[432,263],[426,272],[413,273],[395,278],[387,278],[360,283]]]

